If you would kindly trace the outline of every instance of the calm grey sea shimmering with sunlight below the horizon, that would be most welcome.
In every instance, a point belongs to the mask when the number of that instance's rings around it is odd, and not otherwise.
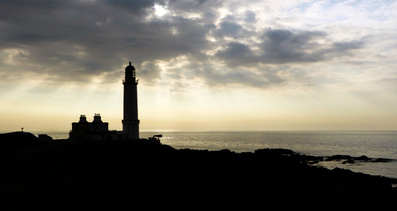
[[[29,131],[25,131],[29,132]],[[67,139],[68,131],[31,131]],[[387,158],[388,162],[341,160],[321,161],[316,165],[329,169],[349,169],[370,175],[397,178],[397,130],[393,131],[139,131],[140,138],[160,135],[160,142],[175,149],[230,150],[236,153],[258,149],[289,149],[300,155],[329,157],[349,155]]]

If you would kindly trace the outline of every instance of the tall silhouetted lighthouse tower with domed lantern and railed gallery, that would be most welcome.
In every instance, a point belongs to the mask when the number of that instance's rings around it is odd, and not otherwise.
[[[139,119],[138,119],[138,80],[135,77],[135,67],[128,65],[126,67],[126,76],[123,80],[124,85],[124,117],[123,133],[127,133],[128,139],[139,139]]]

